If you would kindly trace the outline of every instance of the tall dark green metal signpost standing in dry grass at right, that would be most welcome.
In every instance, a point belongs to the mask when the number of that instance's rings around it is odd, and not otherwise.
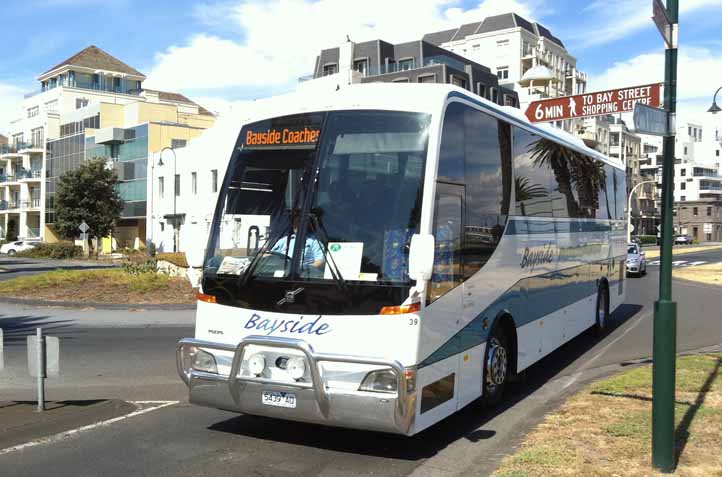
[[[667,16],[677,28],[679,5],[667,0]],[[677,46],[677,45],[673,45]],[[675,462],[674,403],[677,355],[677,303],[672,301],[672,245],[674,202],[674,134],[671,118],[677,110],[677,48],[667,48],[664,68],[664,105],[669,133],[664,137],[662,167],[662,250],[659,300],[654,304],[652,365],[652,466],[673,472]]]

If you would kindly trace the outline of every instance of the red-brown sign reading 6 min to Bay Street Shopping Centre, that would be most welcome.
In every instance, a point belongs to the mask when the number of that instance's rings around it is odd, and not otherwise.
[[[653,83],[534,101],[527,108],[526,117],[538,123],[623,113],[633,111],[637,103],[660,106],[661,98],[662,84]]]

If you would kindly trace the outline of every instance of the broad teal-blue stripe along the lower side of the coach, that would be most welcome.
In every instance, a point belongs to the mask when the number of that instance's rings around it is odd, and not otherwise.
[[[609,292],[613,293],[614,285],[620,280],[619,270],[624,269],[624,260],[623,256],[610,258],[519,280],[418,367],[429,366],[486,342],[491,325],[502,313],[509,313],[519,328],[596,294],[597,280],[602,277],[607,278]]]

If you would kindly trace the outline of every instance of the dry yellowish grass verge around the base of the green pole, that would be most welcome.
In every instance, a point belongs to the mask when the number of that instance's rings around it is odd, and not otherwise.
[[[722,476],[722,354],[677,360],[678,477]],[[593,384],[547,416],[494,477],[654,475],[652,370]]]

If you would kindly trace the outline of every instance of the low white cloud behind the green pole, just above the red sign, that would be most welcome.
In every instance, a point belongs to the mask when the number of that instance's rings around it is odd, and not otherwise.
[[[722,86],[722,56],[705,48],[680,50],[677,60],[677,123],[701,121],[722,129],[722,115],[707,113]],[[664,81],[664,53],[646,53],[618,62],[590,78],[589,90],[601,91]],[[718,102],[722,97],[718,96]]]

